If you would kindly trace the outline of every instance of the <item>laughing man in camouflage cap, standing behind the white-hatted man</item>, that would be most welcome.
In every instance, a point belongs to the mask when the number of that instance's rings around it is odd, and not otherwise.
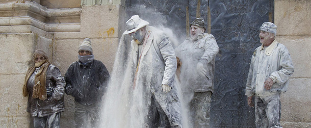
[[[196,18],[190,24],[190,37],[175,49],[176,57],[180,60],[179,80],[183,94],[186,95],[184,100],[190,103],[193,127],[209,127],[211,96],[214,91],[218,45],[212,34],[204,32],[203,18]]]

